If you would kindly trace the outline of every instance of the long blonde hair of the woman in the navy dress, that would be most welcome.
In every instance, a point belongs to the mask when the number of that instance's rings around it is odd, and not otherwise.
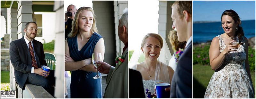
[[[92,15],[93,15],[93,23],[92,23],[92,28],[91,28],[91,36],[93,34],[93,32],[98,33],[98,29],[96,27],[96,19],[95,19],[95,14],[94,11],[91,7],[81,7],[76,11],[76,15],[75,18],[72,21],[72,29],[71,32],[68,34],[68,37],[70,38],[74,38],[76,36],[77,33],[79,33],[79,27],[78,27],[78,20],[79,20],[79,16],[81,14],[82,11],[87,10],[87,11],[91,11]],[[90,36],[90,37],[91,37]],[[90,39],[90,37],[88,37],[87,39]]]

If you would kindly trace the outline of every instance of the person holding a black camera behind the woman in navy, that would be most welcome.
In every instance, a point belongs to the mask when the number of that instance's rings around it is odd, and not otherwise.
[[[68,34],[71,32],[71,28],[72,28],[72,21],[73,18],[75,17],[76,14],[76,6],[73,4],[70,4],[68,6],[67,11],[65,11],[65,39],[68,37]],[[64,40],[65,40],[64,39]]]

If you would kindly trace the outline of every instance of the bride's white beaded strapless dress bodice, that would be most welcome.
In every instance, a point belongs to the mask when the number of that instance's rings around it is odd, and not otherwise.
[[[151,95],[155,95],[155,83],[158,83],[158,82],[164,82],[164,83],[168,83],[167,81],[160,81],[160,80],[142,80],[143,81],[143,87],[144,87],[144,94],[145,94],[145,97],[148,98],[147,94],[146,94],[146,89],[148,89],[149,92],[151,92]]]

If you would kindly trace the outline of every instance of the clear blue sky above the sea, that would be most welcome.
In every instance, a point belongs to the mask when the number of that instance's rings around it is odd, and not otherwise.
[[[255,20],[255,1],[193,1],[193,22],[220,21],[221,14],[230,9],[241,20]]]

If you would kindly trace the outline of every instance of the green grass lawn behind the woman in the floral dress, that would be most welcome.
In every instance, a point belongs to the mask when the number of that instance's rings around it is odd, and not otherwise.
[[[205,90],[214,71],[210,66],[193,65],[193,98],[204,98]],[[251,73],[252,85],[255,89],[255,72]],[[255,98],[255,96],[254,96]]]

